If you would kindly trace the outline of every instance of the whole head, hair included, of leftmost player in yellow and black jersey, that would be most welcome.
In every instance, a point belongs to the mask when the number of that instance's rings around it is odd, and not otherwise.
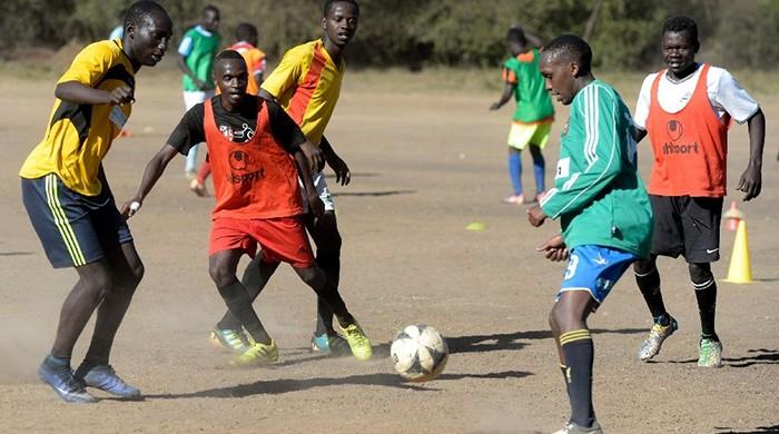
[[[142,0],[132,3],[125,14],[124,48],[136,67],[154,67],[165,56],[174,23],[168,12],[157,2]]]

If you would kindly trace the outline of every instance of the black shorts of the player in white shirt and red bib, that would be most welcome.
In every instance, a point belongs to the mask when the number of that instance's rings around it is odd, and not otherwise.
[[[720,258],[721,197],[649,195],[654,214],[652,254],[678,257],[690,264]]]

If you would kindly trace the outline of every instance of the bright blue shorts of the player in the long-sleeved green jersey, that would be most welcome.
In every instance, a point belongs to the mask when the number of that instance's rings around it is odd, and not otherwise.
[[[584,245],[571,250],[563,283],[558,293],[586,290],[598,303],[603,303],[609,292],[633,262],[632,253],[611,247]]]

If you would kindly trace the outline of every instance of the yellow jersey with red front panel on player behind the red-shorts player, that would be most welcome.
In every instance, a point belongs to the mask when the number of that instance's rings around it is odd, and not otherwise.
[[[308,141],[318,145],[338,102],[345,69],[343,59],[336,66],[317,39],[287,50],[262,88],[276,97]]]

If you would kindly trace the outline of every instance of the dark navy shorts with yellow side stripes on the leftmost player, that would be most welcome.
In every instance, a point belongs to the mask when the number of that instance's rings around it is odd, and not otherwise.
[[[99,195],[83,196],[66,187],[55,174],[22,178],[21,197],[55,268],[95,263],[106,251],[132,240],[105,179]]]

